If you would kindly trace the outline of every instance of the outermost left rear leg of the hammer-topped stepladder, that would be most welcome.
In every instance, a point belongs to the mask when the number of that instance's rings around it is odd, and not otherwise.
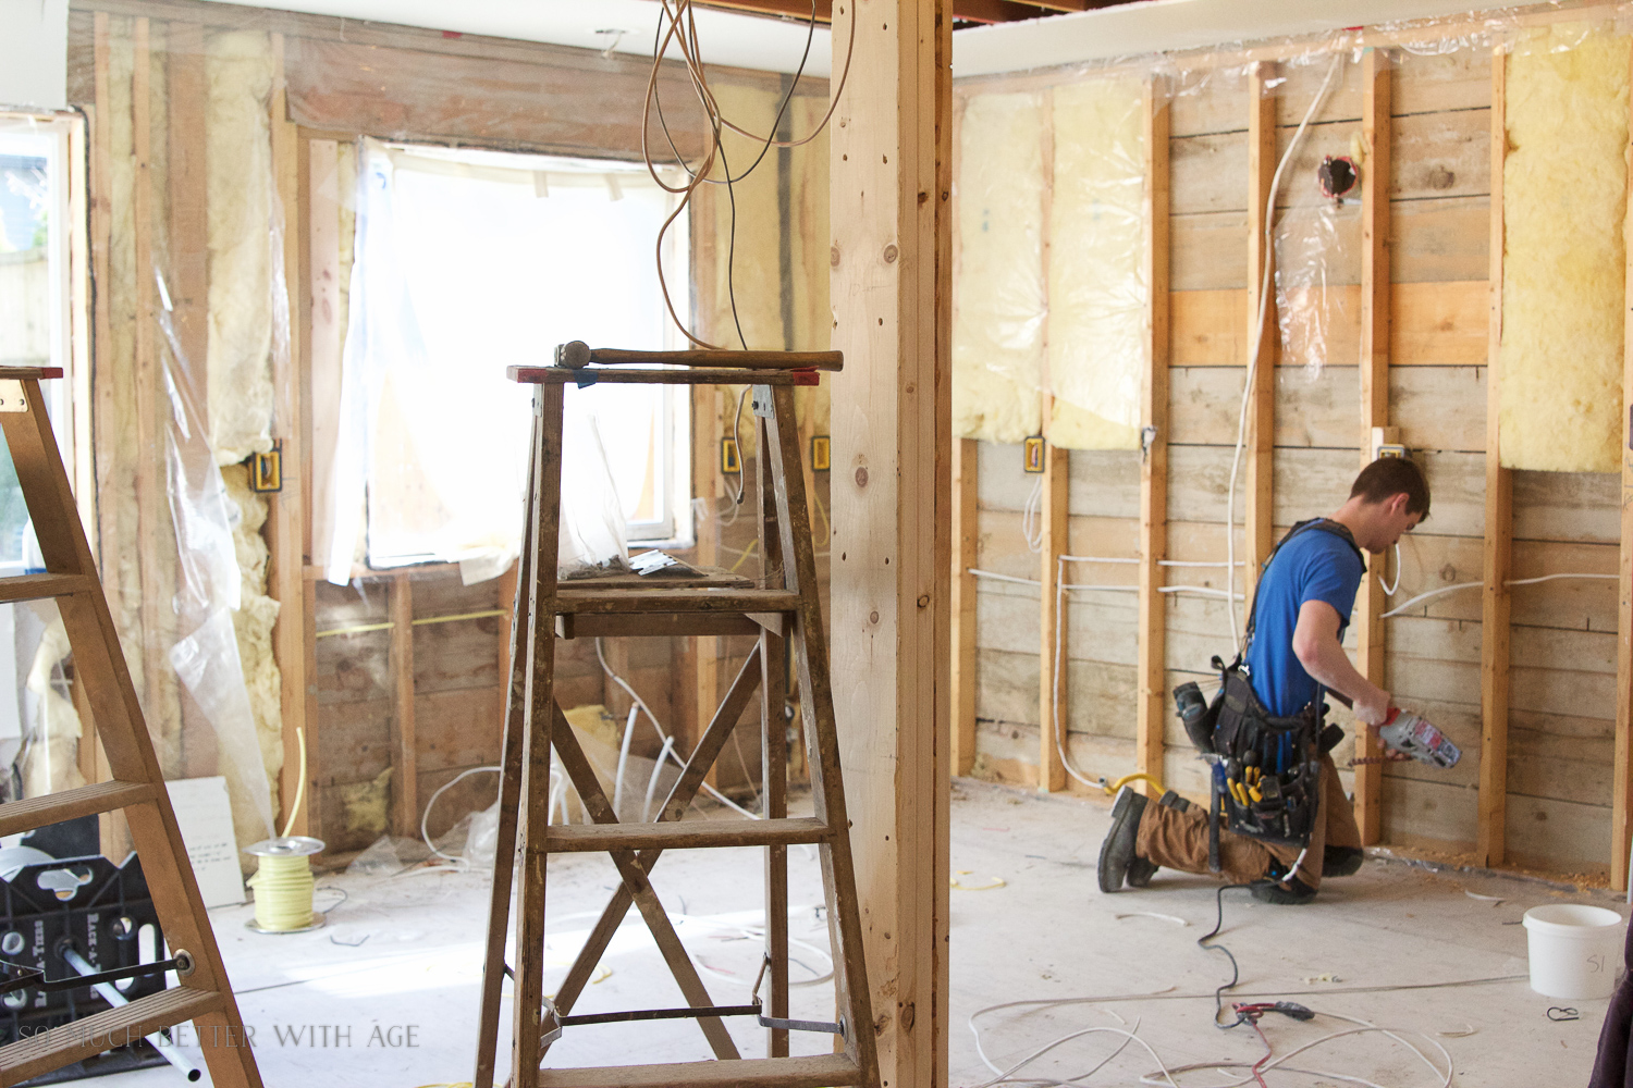
[[[537,427],[537,421],[534,422]],[[534,439],[537,444],[537,437]],[[523,517],[521,553],[516,564],[516,602],[511,608],[511,670],[505,698],[505,755],[500,765],[500,825],[493,847],[493,891],[488,902],[488,948],[482,961],[482,1011],[477,1018],[477,1073],[474,1088],[493,1088],[493,1062],[498,1054],[500,995],[505,988],[505,936],[509,931],[509,897],[516,876],[516,814],[521,811],[521,755],[524,747],[523,708],[526,697],[527,656],[526,594],[532,584],[532,467],[527,471],[527,504]],[[549,804],[549,791],[545,791]]]

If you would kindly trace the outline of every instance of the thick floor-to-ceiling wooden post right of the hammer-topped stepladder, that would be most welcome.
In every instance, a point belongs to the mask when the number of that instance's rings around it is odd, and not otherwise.
[[[833,688],[890,1088],[947,1083],[950,60],[949,0],[869,0],[830,150]]]

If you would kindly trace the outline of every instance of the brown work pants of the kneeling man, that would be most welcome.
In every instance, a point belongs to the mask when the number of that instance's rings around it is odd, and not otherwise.
[[[1360,847],[1355,809],[1344,796],[1331,755],[1321,757],[1321,807],[1316,811],[1316,827],[1310,834],[1310,851],[1298,866],[1298,879],[1310,887],[1321,886],[1321,855],[1326,847]],[[1155,801],[1148,803],[1140,816],[1140,834],[1133,851],[1181,873],[1208,873],[1207,811],[1200,804],[1181,812]],[[1220,871],[1236,884],[1262,878],[1272,861],[1288,866],[1297,858],[1297,847],[1274,847],[1220,829]]]

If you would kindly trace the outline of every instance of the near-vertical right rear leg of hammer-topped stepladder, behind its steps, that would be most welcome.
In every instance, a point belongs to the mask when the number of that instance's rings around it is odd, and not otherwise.
[[[782,533],[777,527],[777,489],[771,475],[771,432],[759,419],[759,449],[756,475],[759,476],[759,553],[764,556],[768,586],[782,577]],[[787,700],[784,661],[787,639],[761,630],[759,667],[759,750],[761,796],[766,799],[761,816],[779,820],[789,814],[789,729],[782,718]],[[766,1010],[777,1019],[789,1016],[789,848],[766,847]],[[787,1057],[789,1033],[782,1028],[768,1029],[766,1057]]]

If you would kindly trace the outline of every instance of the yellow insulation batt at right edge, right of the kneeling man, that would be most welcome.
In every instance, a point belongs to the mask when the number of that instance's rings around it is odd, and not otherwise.
[[[1522,36],[1507,59],[1502,465],[1617,471],[1626,214],[1626,34]]]

